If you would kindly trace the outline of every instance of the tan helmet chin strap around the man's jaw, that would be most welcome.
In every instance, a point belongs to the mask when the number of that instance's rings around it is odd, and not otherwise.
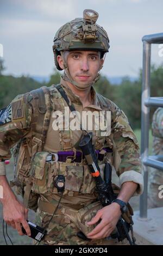
[[[98,70],[98,73],[96,75],[96,77],[93,79],[93,81],[91,83],[86,83],[85,86],[81,86],[79,83],[77,83],[76,81],[74,81],[70,75],[70,72],[68,70],[68,65],[67,65],[67,62],[66,62],[66,58],[65,58],[65,54],[64,52],[61,51],[61,57],[62,57],[62,60],[63,60],[63,63],[64,63],[64,68],[65,68],[65,71],[64,71],[64,75],[62,75],[61,77],[72,83],[74,87],[76,87],[78,90],[85,90],[87,88],[91,88],[91,86],[93,86],[93,84],[95,84],[98,80],[99,80],[99,72],[100,70],[102,69],[103,66],[101,66],[101,68]]]

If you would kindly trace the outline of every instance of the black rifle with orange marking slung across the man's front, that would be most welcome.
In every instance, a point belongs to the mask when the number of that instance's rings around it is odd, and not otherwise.
[[[83,136],[82,140],[79,143],[79,147],[82,149],[83,155],[85,156],[92,176],[96,179],[96,192],[98,193],[98,198],[101,201],[101,204],[103,206],[111,204],[112,201],[116,198],[116,194],[112,190],[111,186],[111,165],[108,162],[105,163],[103,180],[100,174],[100,168],[98,166],[96,153],[92,145],[92,132],[89,132]],[[125,218],[125,216],[123,217]],[[135,245],[135,238],[133,236],[132,227],[134,223],[131,215],[130,218],[129,216],[126,217],[129,221],[123,220],[121,216],[116,224],[116,230],[110,236],[112,238],[117,238],[118,241],[122,241],[127,238],[130,245]],[[132,240],[129,236],[129,230],[131,230]],[[82,237],[81,234],[80,237]]]

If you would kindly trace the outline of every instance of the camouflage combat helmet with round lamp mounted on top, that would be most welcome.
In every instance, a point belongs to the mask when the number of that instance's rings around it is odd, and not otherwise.
[[[54,62],[58,70],[57,56],[60,51],[87,50],[109,51],[109,38],[103,27],[97,25],[98,13],[91,9],[83,11],[83,18],[67,22],[54,36]]]

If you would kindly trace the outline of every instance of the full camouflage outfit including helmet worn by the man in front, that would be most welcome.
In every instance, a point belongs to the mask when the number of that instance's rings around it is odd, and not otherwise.
[[[83,30],[82,30],[83,26]],[[75,30],[78,33],[75,33]],[[67,32],[68,31],[68,32]],[[98,33],[96,33],[98,32]],[[82,33],[85,33],[84,35]],[[83,39],[81,39],[83,36]],[[68,22],[57,32],[54,38],[54,58],[57,63],[57,54],[65,50],[73,50],[85,47],[99,52],[108,52],[109,39],[102,27],[87,23],[82,19]],[[63,56],[64,57],[64,56]],[[98,75],[90,86],[92,103],[83,108],[79,97],[72,93],[67,85],[70,81],[78,86],[68,73],[65,65],[65,74],[61,78],[61,87],[64,88],[68,100],[73,104],[80,114],[83,111],[110,111],[111,112],[111,133],[102,136],[101,130],[92,128],[92,144],[98,151],[98,164],[103,175],[106,162],[109,162],[116,170],[120,178],[120,186],[124,182],[133,181],[139,184],[135,195],[141,194],[143,190],[143,178],[141,175],[141,164],[139,157],[139,145],[131,129],[126,115],[114,102],[106,99],[95,92],[93,83],[97,81]],[[1,159],[10,158],[10,149],[22,139],[20,153],[17,160],[17,177],[12,182],[17,192],[23,194],[24,203],[30,209],[36,211],[36,222],[46,228],[47,235],[43,242],[48,245],[96,245],[96,244],[122,244],[117,240],[100,239],[84,241],[77,236],[82,230],[86,235],[95,227],[88,227],[86,221],[91,220],[96,212],[101,209],[101,203],[97,200],[95,191],[96,182],[92,177],[85,159],[78,157],[81,153],[79,148],[81,130],[58,129],[54,130],[54,119],[57,111],[60,111],[64,118],[64,110],[67,107],[66,101],[62,98],[55,86],[42,87],[45,95],[45,103],[40,106],[36,90],[19,95],[11,104],[2,109],[0,113],[0,156]],[[70,109],[68,108],[70,114]],[[65,119],[64,119],[65,120]],[[94,122],[95,120],[93,120]],[[106,120],[105,120],[106,121]],[[58,121],[59,123],[59,121]],[[87,130],[89,131],[89,130]],[[66,156],[64,161],[55,157],[62,153],[73,156]],[[52,155],[53,154],[53,155]],[[55,156],[47,161],[49,156]],[[80,159],[80,161],[78,161]],[[4,165],[1,164],[0,175],[4,175]],[[58,191],[56,180],[59,175],[64,176],[64,193]],[[117,190],[117,187],[113,185]],[[58,202],[61,202],[58,206]],[[57,209],[52,221],[51,217]]]

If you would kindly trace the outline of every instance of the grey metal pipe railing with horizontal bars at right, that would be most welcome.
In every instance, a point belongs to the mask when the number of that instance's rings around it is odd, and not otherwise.
[[[143,163],[144,192],[140,197],[140,218],[147,218],[148,166],[163,171],[163,156],[148,156],[149,108],[163,107],[163,97],[150,96],[151,44],[163,44],[163,33],[145,35],[143,41],[142,98],[141,98],[141,159]],[[162,88],[163,89],[163,88]]]

